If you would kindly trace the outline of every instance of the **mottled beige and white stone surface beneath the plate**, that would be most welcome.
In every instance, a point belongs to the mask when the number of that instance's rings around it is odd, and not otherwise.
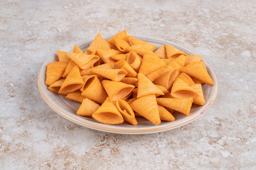
[[[0,1],[1,170],[255,170],[255,0]],[[119,135],[79,126],[38,92],[62,46],[126,29],[182,44],[218,78],[213,106],[166,132]]]

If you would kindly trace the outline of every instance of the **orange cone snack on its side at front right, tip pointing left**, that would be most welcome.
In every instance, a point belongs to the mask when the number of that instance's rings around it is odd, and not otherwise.
[[[156,98],[157,104],[160,104],[166,108],[170,108],[172,110],[176,110],[184,115],[189,115],[193,98]]]

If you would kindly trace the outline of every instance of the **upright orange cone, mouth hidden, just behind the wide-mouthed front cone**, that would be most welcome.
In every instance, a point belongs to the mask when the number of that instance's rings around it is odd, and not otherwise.
[[[87,84],[82,92],[82,95],[100,104],[102,104],[108,97],[108,94],[101,85],[101,82],[97,76],[95,76],[94,79]]]

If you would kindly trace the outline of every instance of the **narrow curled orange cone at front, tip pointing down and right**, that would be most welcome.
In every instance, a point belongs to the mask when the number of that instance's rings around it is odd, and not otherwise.
[[[122,117],[124,118],[125,121],[132,125],[137,125],[137,119],[135,117],[135,114],[130,107],[130,105],[123,99],[117,99],[116,101],[117,109],[121,113]]]

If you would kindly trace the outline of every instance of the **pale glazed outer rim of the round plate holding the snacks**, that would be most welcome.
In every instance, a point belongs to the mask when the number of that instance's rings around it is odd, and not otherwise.
[[[113,35],[102,35],[102,37],[107,40],[108,38],[112,37]],[[142,39],[144,41],[153,41],[153,42],[158,42],[160,44],[162,44],[163,42],[165,42],[166,44],[170,44],[174,47],[176,47],[177,49],[180,49],[182,48],[182,51],[184,51],[185,53],[189,52],[189,53],[192,53],[193,55],[198,55],[197,53],[187,49],[186,47],[180,45],[180,44],[177,44],[175,42],[171,42],[169,40],[164,40],[164,39],[161,39],[161,38],[155,38],[155,37],[152,37],[152,36],[145,36],[145,35],[130,35],[130,36],[133,36],[135,38],[139,38],[139,39]],[[62,50],[62,49],[65,49],[65,48],[74,48],[74,45],[75,44],[81,44],[81,43],[85,43],[85,42],[91,42],[92,40],[94,40],[95,37],[91,37],[91,38],[85,38],[83,40],[79,40],[79,41],[76,41],[76,42],[72,42],[66,46],[63,46],[61,47],[60,49],[58,50]],[[89,45],[90,43],[88,43]],[[57,50],[57,51],[58,51]],[[187,52],[186,52],[187,51]],[[144,127],[144,128],[139,128],[137,126],[134,126],[132,125],[132,128],[124,128],[122,126],[118,126],[118,125],[107,125],[107,124],[102,124],[102,123],[97,123],[97,126],[95,126],[95,122],[92,122],[92,121],[87,121],[86,119],[83,119],[83,121],[81,121],[80,119],[77,119],[76,117],[74,116],[71,116],[71,115],[67,115],[65,113],[63,113],[61,110],[59,110],[58,108],[56,108],[56,106],[54,106],[54,104],[52,104],[52,102],[50,102],[49,98],[47,97],[47,95],[43,92],[43,86],[40,82],[41,80],[41,75],[42,75],[42,72],[44,70],[44,67],[46,66],[47,62],[52,58],[52,57],[55,57],[56,56],[56,51],[54,53],[52,53],[49,57],[47,57],[47,59],[45,60],[45,62],[43,62],[42,66],[40,67],[40,71],[38,73],[38,89],[39,89],[39,92],[40,92],[40,95],[43,97],[44,101],[47,103],[47,105],[52,108],[56,113],[58,113],[59,115],[65,117],[66,119],[72,121],[73,123],[75,124],[79,124],[81,126],[84,126],[86,128],[90,128],[90,129],[94,129],[94,130],[99,130],[99,131],[103,131],[103,132],[110,132],[110,133],[117,133],[117,134],[149,134],[149,133],[156,133],[156,132],[164,132],[164,131],[167,131],[167,130],[172,130],[172,129],[175,129],[175,128],[178,128],[178,127],[181,127],[181,126],[184,126],[192,121],[194,121],[195,119],[197,119],[198,117],[200,117],[202,114],[204,114],[210,107],[211,105],[213,104],[213,102],[215,101],[216,99],[216,96],[217,96],[217,93],[218,93],[218,81],[217,81],[217,77],[213,71],[213,69],[211,68],[211,66],[207,63],[206,60],[204,60],[204,58],[202,57],[202,61],[205,63],[205,65],[207,66],[207,70],[210,70],[211,73],[212,73],[212,79],[213,79],[213,82],[214,82],[214,85],[215,86],[215,89],[214,89],[214,93],[212,94],[211,96],[211,99],[204,105],[202,106],[202,108],[199,110],[200,111],[200,114],[192,114],[190,115],[189,119],[185,119],[186,121],[183,121],[183,123],[180,123],[180,121],[178,120],[175,120],[173,121],[171,124],[164,124],[164,125],[153,125],[150,126],[150,127]],[[44,84],[44,86],[46,86]],[[58,94],[57,94],[58,95]],[[77,115],[76,115],[77,116]],[[171,126],[171,127],[170,127]]]

